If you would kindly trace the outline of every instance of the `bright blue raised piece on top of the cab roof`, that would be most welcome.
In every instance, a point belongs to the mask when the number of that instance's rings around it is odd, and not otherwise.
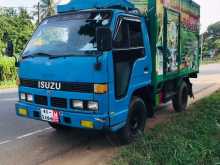
[[[66,5],[58,5],[57,11],[58,13],[65,13],[77,10],[108,8],[134,9],[135,7],[128,0],[71,0]]]

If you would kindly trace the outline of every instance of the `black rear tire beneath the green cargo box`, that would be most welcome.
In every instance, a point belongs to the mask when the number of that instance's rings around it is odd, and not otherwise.
[[[176,112],[186,111],[188,105],[189,90],[185,82],[182,82],[176,95],[173,97],[173,107]]]

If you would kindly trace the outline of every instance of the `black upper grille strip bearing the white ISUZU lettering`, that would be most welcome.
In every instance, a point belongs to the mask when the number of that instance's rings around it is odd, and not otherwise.
[[[28,80],[28,79],[21,79],[20,85],[23,87],[30,87],[30,88],[39,88],[39,82],[41,80]],[[46,83],[51,83],[51,81],[43,81]],[[69,91],[69,92],[81,92],[81,93],[93,93],[94,85],[92,83],[76,83],[76,82],[54,82],[53,83],[60,83],[61,87],[59,89],[54,88],[47,88],[47,90],[59,90],[59,91]],[[45,88],[46,89],[46,88]]]

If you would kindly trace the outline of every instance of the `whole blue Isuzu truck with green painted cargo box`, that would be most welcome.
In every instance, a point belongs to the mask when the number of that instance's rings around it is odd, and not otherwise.
[[[158,105],[172,100],[177,112],[186,110],[190,78],[199,73],[199,5],[60,2],[18,61],[18,116],[55,129],[109,130],[129,143]]]

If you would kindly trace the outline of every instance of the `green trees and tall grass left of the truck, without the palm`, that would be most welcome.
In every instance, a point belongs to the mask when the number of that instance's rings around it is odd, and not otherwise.
[[[15,55],[22,52],[34,29],[31,17],[25,9],[0,9],[0,82],[16,79],[15,59],[4,55],[6,41],[4,33],[9,34],[14,43]]]

